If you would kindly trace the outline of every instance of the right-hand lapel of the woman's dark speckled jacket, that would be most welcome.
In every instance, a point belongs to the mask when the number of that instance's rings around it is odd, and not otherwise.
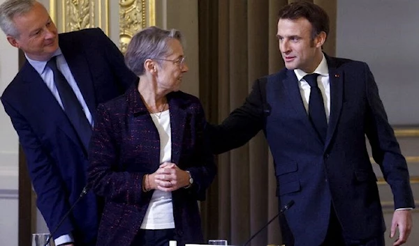
[[[183,108],[182,100],[175,97],[169,97],[169,95],[168,100],[170,109],[170,129],[172,132],[172,162],[179,164],[187,113]]]

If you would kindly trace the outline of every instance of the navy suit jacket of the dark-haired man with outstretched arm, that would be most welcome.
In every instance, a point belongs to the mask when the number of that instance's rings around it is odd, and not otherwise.
[[[365,136],[390,184],[395,208],[414,206],[406,160],[372,72],[359,61],[326,59],[331,109],[325,144],[309,121],[295,73],[286,68],[257,79],[244,105],[209,128],[216,153],[241,146],[263,130],[274,157],[280,204],[295,201],[285,216],[295,245],[323,242],[331,203],[349,238],[382,235],[385,224]]]

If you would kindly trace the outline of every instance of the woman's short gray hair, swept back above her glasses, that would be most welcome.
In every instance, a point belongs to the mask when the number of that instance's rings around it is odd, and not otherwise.
[[[135,33],[125,53],[126,66],[135,73],[143,75],[147,59],[165,58],[171,52],[168,42],[173,38],[182,44],[182,33],[176,29],[164,30],[150,26]],[[161,61],[156,61],[161,65]]]

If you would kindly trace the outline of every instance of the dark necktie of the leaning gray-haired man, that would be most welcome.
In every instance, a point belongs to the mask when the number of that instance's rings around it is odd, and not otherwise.
[[[54,84],[57,86],[59,97],[64,106],[64,112],[66,112],[66,115],[82,141],[84,148],[88,150],[91,137],[91,125],[87,120],[82,105],[77,99],[73,89],[71,89],[71,86],[68,84],[64,75],[58,70],[56,57],[57,56],[53,56],[50,61],[47,62],[47,66],[51,68],[54,73]]]

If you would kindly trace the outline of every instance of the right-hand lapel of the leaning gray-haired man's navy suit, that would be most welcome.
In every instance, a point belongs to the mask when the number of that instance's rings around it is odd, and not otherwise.
[[[63,52],[64,58],[71,70],[71,74],[83,95],[84,101],[86,102],[87,107],[89,107],[91,116],[94,117],[96,112],[94,84],[91,79],[89,63],[87,63],[84,52],[82,50],[75,52],[74,49],[78,49],[78,47],[70,40],[60,39],[59,47],[61,48],[61,52]]]

